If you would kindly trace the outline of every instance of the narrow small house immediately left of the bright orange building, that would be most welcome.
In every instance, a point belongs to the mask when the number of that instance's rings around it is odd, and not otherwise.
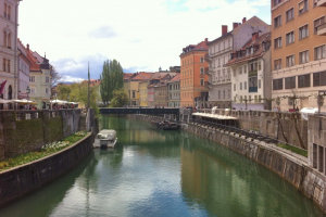
[[[180,74],[167,82],[168,107],[180,106]]]

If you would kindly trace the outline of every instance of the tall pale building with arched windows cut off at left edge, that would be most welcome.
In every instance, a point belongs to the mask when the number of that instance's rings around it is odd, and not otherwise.
[[[0,84],[5,84],[0,98],[16,99],[18,93],[17,73],[17,26],[20,0],[0,1]]]

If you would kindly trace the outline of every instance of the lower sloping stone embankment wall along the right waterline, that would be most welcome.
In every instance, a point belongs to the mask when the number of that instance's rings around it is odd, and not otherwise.
[[[146,122],[160,122],[163,119],[163,117],[149,115],[137,115],[135,118]],[[326,130],[326,119],[323,126]],[[183,124],[183,130],[203,139],[215,141],[216,145],[222,144],[265,166],[294,186],[305,196],[313,200],[326,213],[325,176],[317,169],[310,167],[308,158],[298,156],[286,150],[280,151],[274,144],[246,139],[236,133],[229,133],[228,131],[205,127],[191,122]],[[313,131],[312,133],[317,133],[317,131]],[[326,137],[326,133],[324,137]]]

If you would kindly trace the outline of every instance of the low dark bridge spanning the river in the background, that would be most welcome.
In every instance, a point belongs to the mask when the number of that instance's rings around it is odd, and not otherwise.
[[[166,107],[102,107],[101,114],[179,115],[179,108]]]

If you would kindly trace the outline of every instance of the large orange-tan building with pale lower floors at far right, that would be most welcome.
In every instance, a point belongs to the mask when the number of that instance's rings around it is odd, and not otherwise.
[[[317,95],[326,91],[325,15],[325,1],[272,1],[275,110],[318,107]]]

